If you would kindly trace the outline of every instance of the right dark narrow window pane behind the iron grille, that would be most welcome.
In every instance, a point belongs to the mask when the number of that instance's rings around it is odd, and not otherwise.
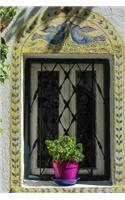
[[[94,76],[95,77],[95,73]],[[95,78],[94,78],[95,79]],[[93,81],[93,91],[92,91]],[[95,158],[95,82],[92,71],[76,72],[76,107],[77,107],[77,141],[84,147],[84,162],[82,168],[94,168]],[[93,93],[93,95],[92,95]],[[93,125],[92,125],[93,124]],[[93,126],[93,132],[92,132]]]

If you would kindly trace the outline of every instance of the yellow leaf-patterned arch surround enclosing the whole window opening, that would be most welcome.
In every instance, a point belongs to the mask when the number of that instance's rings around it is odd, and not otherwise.
[[[102,36],[102,40],[92,40],[89,43],[80,43],[80,41],[73,41],[71,36],[71,29],[67,28],[67,32],[62,41],[58,44],[52,44],[52,41],[46,41],[46,31],[50,26],[58,26],[59,24],[66,24],[69,22],[74,25],[79,24],[80,27],[90,27],[95,31],[94,37]],[[94,33],[94,32],[93,32]],[[93,36],[91,36],[93,37]],[[111,55],[113,56],[113,89],[114,89],[114,184],[119,184],[124,181],[124,49],[123,41],[112,26],[103,16],[90,11],[89,9],[73,9],[69,14],[63,11],[58,13],[58,10],[52,10],[50,13],[38,12],[32,17],[27,24],[21,27],[19,34],[13,46],[13,60],[12,60],[12,98],[11,98],[11,131],[10,131],[10,188],[12,191],[33,191],[33,192],[72,192],[67,189],[25,189],[22,186],[22,110],[21,87],[23,83],[22,77],[22,57],[28,54],[96,54],[96,55]],[[104,188],[103,188],[104,189]],[[96,192],[103,189],[97,188]],[[90,191],[90,189],[74,189],[75,192]],[[110,189],[107,187],[107,191]],[[115,189],[112,187],[112,191]]]

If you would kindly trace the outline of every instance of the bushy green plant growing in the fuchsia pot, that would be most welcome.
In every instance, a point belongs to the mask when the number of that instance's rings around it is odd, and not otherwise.
[[[61,136],[56,140],[46,140],[47,149],[53,160],[59,162],[80,162],[83,160],[83,146],[76,143],[76,138]]]

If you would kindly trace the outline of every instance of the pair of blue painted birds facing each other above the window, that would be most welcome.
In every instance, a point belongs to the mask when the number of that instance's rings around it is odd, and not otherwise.
[[[59,24],[57,26],[46,27],[41,31],[46,33],[43,36],[44,40],[50,44],[57,45],[65,40],[68,29],[70,30],[72,40],[76,44],[90,44],[93,41],[105,41],[104,35],[90,36],[87,34],[92,31],[96,31],[96,29],[90,26],[80,27],[79,25],[73,24],[70,21],[66,21],[63,24]],[[38,37],[38,35],[36,35],[36,37]]]

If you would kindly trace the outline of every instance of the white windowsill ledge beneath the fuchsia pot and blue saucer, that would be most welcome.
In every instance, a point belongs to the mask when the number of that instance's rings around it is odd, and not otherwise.
[[[54,181],[35,181],[24,180],[23,186],[26,188],[95,188],[95,187],[112,187],[109,181],[78,181],[77,184],[72,186],[59,186]]]

